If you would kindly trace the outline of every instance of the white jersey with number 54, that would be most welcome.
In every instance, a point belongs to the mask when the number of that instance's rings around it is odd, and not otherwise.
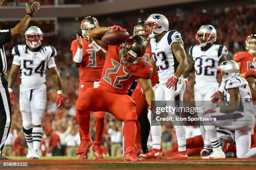
[[[26,52],[27,51],[27,52]],[[26,45],[17,45],[12,50],[13,64],[20,66],[20,89],[30,90],[46,87],[46,69],[55,67],[56,49],[43,46],[40,51],[26,49]]]

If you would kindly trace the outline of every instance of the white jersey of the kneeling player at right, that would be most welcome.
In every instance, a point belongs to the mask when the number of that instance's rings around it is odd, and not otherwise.
[[[227,103],[230,101],[230,94],[228,93],[228,89],[235,88],[237,88],[239,91],[241,101],[238,111],[244,112],[245,114],[255,114],[252,104],[251,90],[248,82],[243,77],[228,79],[224,87],[225,101]]]

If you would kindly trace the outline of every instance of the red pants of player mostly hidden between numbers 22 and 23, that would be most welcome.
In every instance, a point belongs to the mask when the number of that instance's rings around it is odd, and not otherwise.
[[[136,114],[137,114],[137,121],[136,121],[136,127],[137,127],[137,132],[136,132],[136,138],[135,138],[135,146],[140,150],[141,149],[141,125],[139,122],[139,117],[147,105],[146,97],[145,95],[142,94],[141,92],[142,88],[136,88],[133,90],[133,94],[131,95],[132,99],[136,103]],[[147,120],[145,120],[147,121]]]

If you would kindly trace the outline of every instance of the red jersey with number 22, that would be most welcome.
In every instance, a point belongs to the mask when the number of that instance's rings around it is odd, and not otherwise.
[[[150,79],[153,67],[144,59],[136,65],[125,67],[120,63],[119,50],[120,46],[108,46],[100,88],[116,94],[128,94],[136,79]]]

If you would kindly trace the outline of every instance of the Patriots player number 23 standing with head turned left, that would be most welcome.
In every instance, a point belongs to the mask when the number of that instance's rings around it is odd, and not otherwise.
[[[184,69],[187,67],[187,56],[184,51],[181,34],[176,30],[169,30],[169,22],[164,15],[152,14],[144,23],[145,33],[151,38],[150,45],[152,51],[151,65],[154,71],[158,70],[159,87],[155,91],[156,101],[179,101],[183,100],[185,84],[182,77]],[[153,71],[153,73],[154,73]],[[179,91],[176,85],[180,82]],[[177,96],[174,95],[176,91]],[[169,115],[173,116],[173,115]],[[151,124],[151,113],[148,113],[148,119]],[[174,125],[177,134],[179,152],[175,153],[174,159],[188,158],[186,151],[186,132],[182,125]],[[161,126],[151,126],[151,136],[153,140],[153,149],[141,154],[144,158],[161,158]]]

